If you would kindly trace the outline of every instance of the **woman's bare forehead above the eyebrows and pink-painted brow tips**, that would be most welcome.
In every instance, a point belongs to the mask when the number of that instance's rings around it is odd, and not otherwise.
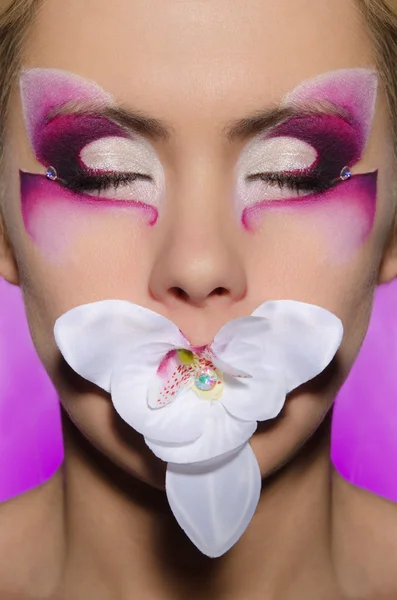
[[[24,62],[169,121],[235,117],[314,75],[373,66],[353,0],[45,0]]]

